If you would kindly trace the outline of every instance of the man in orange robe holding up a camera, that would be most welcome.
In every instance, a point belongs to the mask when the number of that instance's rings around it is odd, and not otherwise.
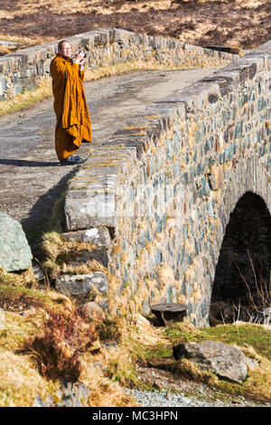
[[[83,142],[91,142],[91,123],[86,101],[84,56],[72,61],[70,42],[62,40],[58,53],[51,61],[53,109],[56,114],[55,149],[61,165],[81,164],[84,160],[72,154]]]

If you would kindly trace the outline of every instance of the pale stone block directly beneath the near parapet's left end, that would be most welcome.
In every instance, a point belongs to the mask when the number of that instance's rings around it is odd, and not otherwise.
[[[86,231],[69,231],[61,233],[63,241],[89,242],[105,250],[112,247],[110,233],[107,227],[93,227]]]

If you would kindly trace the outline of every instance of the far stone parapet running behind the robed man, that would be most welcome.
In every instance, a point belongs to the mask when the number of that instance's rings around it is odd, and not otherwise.
[[[81,33],[67,40],[73,54],[79,49],[87,53],[89,70],[127,61],[152,61],[174,67],[217,66],[238,57],[118,29]],[[58,42],[48,42],[0,57],[0,100],[10,99],[24,90],[35,90],[39,80],[50,78],[50,62],[57,45]]]

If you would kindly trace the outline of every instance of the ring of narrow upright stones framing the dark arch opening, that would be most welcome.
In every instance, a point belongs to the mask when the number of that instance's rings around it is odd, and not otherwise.
[[[220,202],[215,209],[216,227],[215,237],[210,239],[208,250],[201,261],[204,285],[201,288],[201,300],[199,304],[191,306],[194,315],[194,323],[204,326],[210,323],[211,298],[216,279],[216,270],[220,260],[220,250],[226,235],[231,215],[238,207],[238,202],[246,194],[260,199],[265,205],[266,212],[271,211],[271,185],[266,172],[266,166],[260,158],[252,155],[249,158],[240,159],[231,167],[227,181],[225,180],[218,190]],[[271,269],[271,267],[270,267]]]

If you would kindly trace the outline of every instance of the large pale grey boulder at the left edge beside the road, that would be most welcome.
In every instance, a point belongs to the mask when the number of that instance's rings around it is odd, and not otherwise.
[[[5,271],[29,269],[33,255],[22,225],[0,213],[0,266]]]

